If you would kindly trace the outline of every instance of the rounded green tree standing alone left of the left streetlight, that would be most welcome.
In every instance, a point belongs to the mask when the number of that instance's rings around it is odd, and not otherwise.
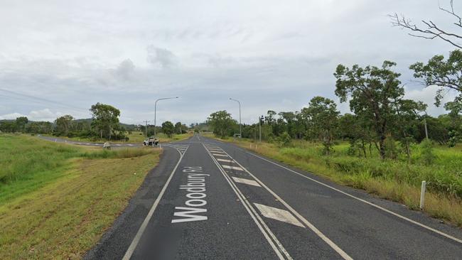
[[[92,128],[103,136],[111,139],[112,129],[119,125],[119,109],[112,107],[109,104],[97,103],[92,105],[90,109],[92,112]]]

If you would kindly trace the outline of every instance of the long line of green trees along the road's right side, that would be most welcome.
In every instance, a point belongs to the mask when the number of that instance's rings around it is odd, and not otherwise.
[[[435,60],[439,60],[439,65]],[[352,153],[367,157],[372,155],[372,149],[377,149],[381,158],[396,158],[397,149],[393,146],[399,143],[409,160],[411,144],[424,141],[427,136],[438,143],[455,146],[462,137],[461,87],[457,89],[456,99],[444,104],[448,114],[431,117],[426,114],[427,104],[404,99],[404,86],[399,80],[400,74],[394,71],[395,66],[396,63],[387,60],[380,67],[337,66],[333,73],[335,95],[340,102],[349,102],[352,114],[340,114],[332,99],[313,97],[308,107],[300,111],[276,113],[269,110],[259,123],[245,124],[242,137],[258,139],[261,126],[262,139],[270,142],[318,141],[323,144],[325,153],[330,154],[334,141],[343,139],[350,141]],[[427,64],[415,63],[410,68],[415,77],[427,85],[434,85],[441,81],[441,77],[450,77],[448,73],[453,70],[461,72],[462,53],[454,50],[448,60],[438,55]],[[448,73],[436,77],[435,73],[441,74],[443,69]],[[451,82],[452,85],[459,84],[455,80]],[[442,88],[436,94],[436,105],[441,104],[445,88],[453,90],[451,86],[439,86]],[[226,111],[210,114],[208,124],[217,136],[232,136],[239,132],[237,121]]]

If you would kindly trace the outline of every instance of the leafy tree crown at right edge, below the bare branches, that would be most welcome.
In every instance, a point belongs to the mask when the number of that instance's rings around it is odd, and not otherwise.
[[[409,67],[414,70],[414,77],[423,79],[426,87],[439,86],[435,104],[439,106],[444,97],[444,91],[456,91],[459,96],[454,102],[462,102],[462,51],[453,50],[449,58],[444,60],[443,55],[435,55],[428,63],[414,63]]]

